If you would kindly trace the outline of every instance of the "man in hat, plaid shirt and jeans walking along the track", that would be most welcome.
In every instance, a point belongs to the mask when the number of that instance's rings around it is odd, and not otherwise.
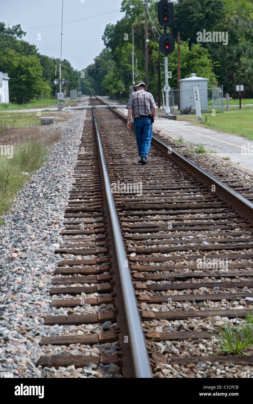
[[[127,103],[128,117],[127,127],[131,129],[130,117],[134,119],[135,137],[140,156],[139,164],[148,163],[148,152],[152,138],[152,128],[156,116],[156,103],[143,81],[138,81],[133,86],[135,91],[130,95]]]

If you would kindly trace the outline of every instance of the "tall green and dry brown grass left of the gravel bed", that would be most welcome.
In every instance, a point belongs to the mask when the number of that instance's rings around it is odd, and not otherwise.
[[[8,158],[8,155],[11,156],[10,149],[7,149],[7,156],[0,155],[0,215],[8,209],[34,171],[42,166],[46,160],[48,146],[59,138],[58,129],[41,131],[40,126],[5,128],[0,133],[0,143],[13,147],[12,158]],[[1,220],[0,225],[2,224]]]

